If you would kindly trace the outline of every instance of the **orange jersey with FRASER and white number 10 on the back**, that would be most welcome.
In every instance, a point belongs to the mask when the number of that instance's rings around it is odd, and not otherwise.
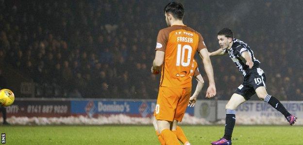
[[[206,48],[201,34],[187,26],[171,26],[158,33],[155,50],[165,52],[160,86],[191,87],[192,62],[196,51]]]

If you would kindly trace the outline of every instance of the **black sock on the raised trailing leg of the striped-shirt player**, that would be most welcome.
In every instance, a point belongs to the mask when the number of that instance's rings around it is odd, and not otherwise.
[[[291,114],[286,110],[283,104],[273,96],[267,95],[264,99],[264,102],[269,103],[273,108],[280,111],[285,117],[290,116]]]

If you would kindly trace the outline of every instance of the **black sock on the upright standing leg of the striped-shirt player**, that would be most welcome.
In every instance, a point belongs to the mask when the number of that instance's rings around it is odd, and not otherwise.
[[[232,139],[232,133],[236,123],[236,110],[226,109],[226,118],[225,118],[225,133],[224,138],[227,140]]]

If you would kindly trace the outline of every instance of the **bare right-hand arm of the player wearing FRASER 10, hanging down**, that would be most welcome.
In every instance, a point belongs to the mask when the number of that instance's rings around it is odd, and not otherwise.
[[[199,51],[199,55],[202,58],[202,62],[204,65],[204,70],[205,73],[207,74],[207,78],[209,81],[209,86],[207,88],[206,91],[206,98],[211,98],[214,97],[217,92],[216,92],[216,85],[215,85],[215,79],[214,79],[214,70],[213,70],[213,66],[211,64],[209,55],[208,55],[208,50],[206,48],[201,49]]]

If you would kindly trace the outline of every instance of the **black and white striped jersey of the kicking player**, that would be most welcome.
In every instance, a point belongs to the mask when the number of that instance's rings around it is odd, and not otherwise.
[[[236,67],[239,69],[239,71],[243,74],[243,76],[246,76],[249,70],[249,66],[246,65],[246,60],[241,56],[243,52],[248,52],[251,55],[251,58],[253,60],[253,68],[258,68],[260,61],[256,59],[253,55],[253,50],[247,45],[247,43],[244,43],[243,41],[240,41],[236,38],[233,39],[233,45],[231,49],[225,49],[225,53],[229,54],[229,57],[234,61],[236,64]]]

